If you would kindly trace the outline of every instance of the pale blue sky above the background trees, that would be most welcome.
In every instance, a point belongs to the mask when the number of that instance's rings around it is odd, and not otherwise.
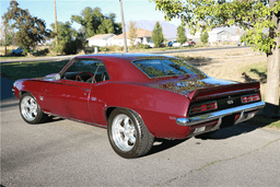
[[[21,9],[28,9],[33,16],[45,20],[46,25],[50,28],[50,24],[55,23],[54,0],[18,0]],[[8,11],[10,0],[0,0],[1,16]],[[57,21],[71,21],[71,15],[80,15],[81,11],[86,8],[98,7],[103,14],[115,13],[116,22],[121,22],[119,0],[56,0]],[[125,22],[129,21],[164,21],[164,14],[155,10],[155,3],[149,0],[122,0]],[[168,22],[179,25],[179,20]],[[77,30],[80,25],[73,23]]]

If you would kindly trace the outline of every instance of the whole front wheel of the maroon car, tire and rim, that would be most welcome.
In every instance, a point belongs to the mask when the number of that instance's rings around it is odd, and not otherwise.
[[[20,100],[20,113],[28,124],[44,122],[48,116],[40,109],[36,98],[31,93],[25,93]]]

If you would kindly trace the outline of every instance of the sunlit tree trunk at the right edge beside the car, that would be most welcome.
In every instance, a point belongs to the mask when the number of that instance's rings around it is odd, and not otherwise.
[[[276,0],[270,0],[270,8],[273,7]],[[267,54],[267,91],[266,107],[264,114],[270,117],[279,117],[279,81],[280,81],[280,37],[276,36],[280,32],[279,13],[272,14],[272,21],[276,27],[269,31],[270,37],[275,37],[276,46],[271,48],[271,52]]]

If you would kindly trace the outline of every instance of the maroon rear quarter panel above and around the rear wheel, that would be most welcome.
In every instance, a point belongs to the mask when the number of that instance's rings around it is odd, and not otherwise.
[[[92,86],[90,109],[97,124],[106,124],[108,107],[137,112],[149,131],[158,138],[186,138],[188,127],[178,126],[177,117],[185,117],[189,100],[170,91],[144,85],[105,81]]]

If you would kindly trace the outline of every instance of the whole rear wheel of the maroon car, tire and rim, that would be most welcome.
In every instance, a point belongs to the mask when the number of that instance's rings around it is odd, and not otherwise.
[[[154,137],[147,129],[140,115],[124,108],[112,112],[107,133],[114,151],[125,159],[147,154],[154,142]]]

